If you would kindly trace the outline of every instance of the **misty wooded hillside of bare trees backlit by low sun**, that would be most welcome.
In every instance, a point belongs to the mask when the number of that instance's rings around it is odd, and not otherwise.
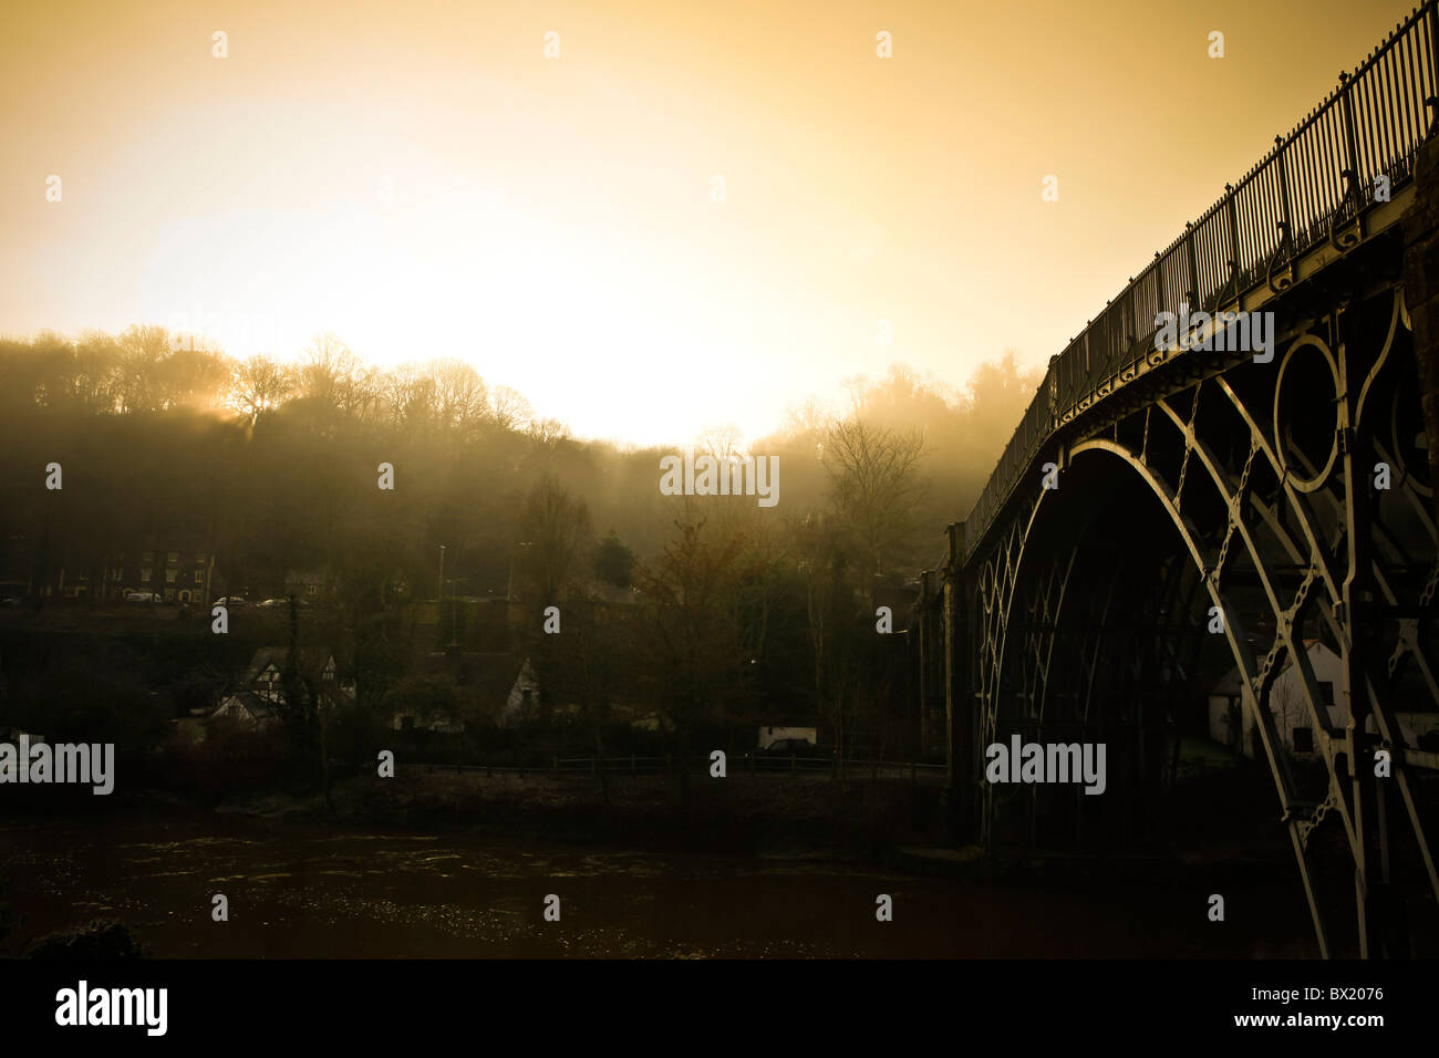
[[[460,360],[381,370],[330,334],[283,361],[181,347],[157,327],[45,333],[0,341],[0,570],[35,606],[83,576],[83,597],[66,599],[82,607],[114,599],[106,570],[151,541],[213,554],[213,594],[282,596],[308,571],[325,586],[311,636],[342,646],[355,684],[332,753],[407,698],[473,714],[466,691],[417,669],[406,607],[420,603],[458,649],[530,658],[545,708],[574,707],[596,751],[616,711],[655,717],[679,750],[778,715],[814,718],[842,754],[915,750],[876,606],[904,630],[917,571],[941,557],[944,527],[968,512],[1038,381],[1007,353],[963,390],[895,364],[852,381],[840,412],[796,404],[747,446],[778,456],[780,502],[760,508],[662,495],[673,449],[576,439]],[[689,446],[745,455],[728,426]],[[50,464],[60,489],[45,487]],[[393,491],[377,487],[381,464]],[[485,646],[456,597],[524,616]],[[560,635],[541,632],[550,606]],[[304,674],[286,678],[309,698]],[[20,697],[36,721],[46,695]],[[311,713],[296,744],[314,753]]]

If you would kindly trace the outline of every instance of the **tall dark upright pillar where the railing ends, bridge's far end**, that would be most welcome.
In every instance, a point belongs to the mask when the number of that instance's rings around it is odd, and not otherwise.
[[[950,560],[944,569],[944,760],[945,829],[954,841],[974,831],[974,695],[970,685],[970,599],[964,574],[964,523],[948,528]]]

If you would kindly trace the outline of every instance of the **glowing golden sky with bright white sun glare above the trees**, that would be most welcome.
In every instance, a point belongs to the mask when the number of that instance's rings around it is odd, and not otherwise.
[[[332,331],[584,436],[754,438],[891,361],[1045,363],[1409,10],[9,3],[0,333]]]

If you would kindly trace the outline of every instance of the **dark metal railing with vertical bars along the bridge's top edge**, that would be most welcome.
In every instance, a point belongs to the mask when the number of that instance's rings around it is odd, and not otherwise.
[[[984,538],[1039,449],[1076,407],[1095,399],[1153,347],[1160,312],[1232,305],[1281,266],[1348,225],[1413,177],[1439,105],[1439,0],[1427,0],[1389,39],[1341,75],[1315,107],[1238,184],[1168,245],[1050,361],[1039,392],[966,520],[967,553]]]

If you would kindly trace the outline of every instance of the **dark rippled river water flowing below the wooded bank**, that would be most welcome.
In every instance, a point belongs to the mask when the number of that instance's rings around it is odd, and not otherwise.
[[[1055,892],[812,859],[649,854],[200,812],[0,823],[10,953],[95,917],[163,957],[1305,954],[1281,891],[1226,924],[1203,887]],[[226,923],[212,897],[229,898]],[[544,921],[547,894],[561,920]],[[875,898],[894,898],[894,921]]]

